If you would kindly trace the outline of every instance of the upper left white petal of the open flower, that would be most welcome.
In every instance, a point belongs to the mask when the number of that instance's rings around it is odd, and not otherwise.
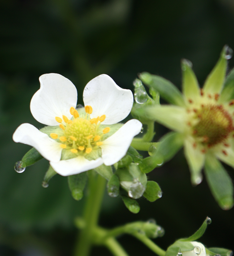
[[[55,117],[63,115],[71,118],[69,110],[76,107],[77,90],[75,85],[59,74],[45,74],[39,77],[40,89],[30,103],[33,117],[46,125],[58,125]]]

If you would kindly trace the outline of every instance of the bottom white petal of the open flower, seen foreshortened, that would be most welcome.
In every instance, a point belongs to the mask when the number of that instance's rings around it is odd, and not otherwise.
[[[61,160],[58,163],[50,162],[53,169],[62,176],[74,175],[94,169],[103,164],[102,158],[87,160],[83,155],[78,157]]]

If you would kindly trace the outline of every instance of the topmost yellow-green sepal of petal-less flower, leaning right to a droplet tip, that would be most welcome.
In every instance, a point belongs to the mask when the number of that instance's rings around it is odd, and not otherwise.
[[[227,47],[227,45],[224,46],[217,64],[205,80],[204,93],[219,94],[222,91],[227,71]]]

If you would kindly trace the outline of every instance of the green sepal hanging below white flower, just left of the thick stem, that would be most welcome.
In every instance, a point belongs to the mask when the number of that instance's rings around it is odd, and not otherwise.
[[[69,189],[72,192],[72,197],[75,200],[80,200],[83,197],[83,190],[87,182],[87,173],[78,173],[68,176]]]

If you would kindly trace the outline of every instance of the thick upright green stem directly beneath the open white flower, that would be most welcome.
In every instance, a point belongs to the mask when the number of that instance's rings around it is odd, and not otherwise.
[[[84,208],[83,219],[86,226],[80,231],[78,243],[75,247],[74,256],[88,256],[92,243],[94,230],[97,228],[102,197],[105,190],[106,180],[97,175],[93,170],[88,171],[89,195]]]

